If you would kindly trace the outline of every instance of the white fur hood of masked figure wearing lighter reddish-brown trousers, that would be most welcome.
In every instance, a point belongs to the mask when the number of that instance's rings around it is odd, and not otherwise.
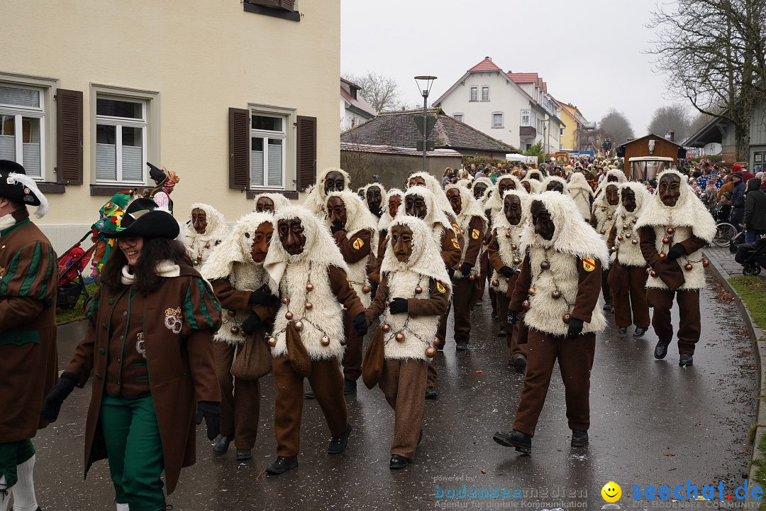
[[[429,224],[420,218],[401,215],[391,222],[394,225],[406,225],[412,231],[412,254],[406,263],[401,263],[394,255],[394,251],[385,251],[381,272],[413,271],[416,274],[439,280],[445,287],[451,288],[450,276],[444,267],[439,247],[431,237]]]

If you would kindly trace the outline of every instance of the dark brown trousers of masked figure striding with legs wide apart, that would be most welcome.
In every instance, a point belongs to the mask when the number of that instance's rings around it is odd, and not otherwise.
[[[513,429],[535,436],[548,385],[551,384],[553,366],[558,360],[561,380],[564,382],[567,419],[570,429],[587,431],[591,425],[591,367],[596,350],[596,334],[586,333],[576,339],[551,336],[529,330],[529,352],[524,388]]]

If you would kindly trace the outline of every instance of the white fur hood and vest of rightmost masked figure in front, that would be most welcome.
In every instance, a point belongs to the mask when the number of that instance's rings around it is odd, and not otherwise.
[[[655,193],[641,211],[636,222],[636,230],[648,226],[654,229],[655,247],[658,254],[667,254],[673,244],[680,243],[696,236],[710,243],[715,236],[715,220],[699,197],[692,191],[683,174],[677,170],[665,170],[657,176],[657,183],[663,175],[677,175],[681,180],[681,195],[673,207],[666,206],[660,200],[660,194]],[[659,188],[659,185],[658,185]],[[673,228],[672,241],[663,244],[663,237],[668,236],[666,229]],[[702,249],[676,259],[683,270],[686,282],[679,290],[699,290],[705,287],[705,270],[702,267]],[[692,270],[686,270],[686,263],[692,264]],[[660,277],[648,277],[647,287],[667,289]]]

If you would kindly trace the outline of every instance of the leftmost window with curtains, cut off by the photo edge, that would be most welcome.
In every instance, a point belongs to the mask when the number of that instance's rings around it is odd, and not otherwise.
[[[45,110],[42,90],[0,84],[0,159],[24,165],[44,180]]]

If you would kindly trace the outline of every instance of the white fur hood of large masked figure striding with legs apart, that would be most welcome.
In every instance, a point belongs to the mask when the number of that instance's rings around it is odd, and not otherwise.
[[[542,192],[529,198],[525,205],[527,215],[529,215],[532,201],[542,201],[545,209],[550,212],[556,228],[552,240],[548,241],[535,234],[532,224],[527,224],[522,232],[522,253],[529,247],[552,248],[575,257],[595,257],[601,261],[604,270],[609,267],[609,251],[606,242],[587,222],[583,221],[571,197],[558,192]]]

